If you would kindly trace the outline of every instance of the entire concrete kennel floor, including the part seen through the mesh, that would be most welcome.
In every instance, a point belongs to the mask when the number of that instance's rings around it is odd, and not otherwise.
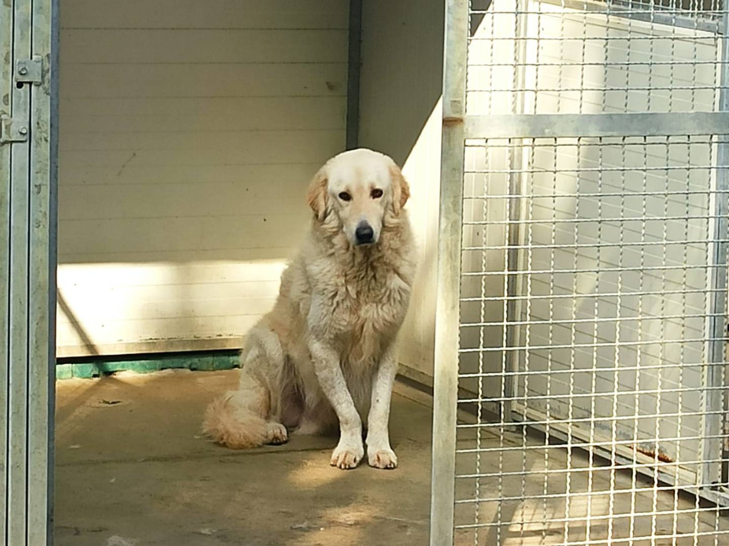
[[[391,439],[397,470],[364,464],[342,471],[329,466],[334,438],[294,437],[252,451],[200,438],[206,404],[236,381],[237,371],[59,381],[57,544],[428,543],[429,397],[396,387]],[[518,448],[525,441],[529,451]],[[670,488],[656,491],[652,480],[634,482],[629,471],[611,472],[607,462],[591,465],[585,452],[574,451],[568,462],[564,446],[545,454],[543,440],[518,430],[504,431],[502,440],[460,430],[459,448],[479,445],[486,449],[480,460],[469,453],[457,458],[457,473],[485,475],[456,480],[456,498],[482,499],[456,505],[456,524],[464,526],[456,532],[459,546],[560,545],[566,538],[574,544],[612,538],[616,545],[729,545],[729,517]],[[499,456],[499,446],[518,449]],[[473,523],[483,527],[473,529]]]

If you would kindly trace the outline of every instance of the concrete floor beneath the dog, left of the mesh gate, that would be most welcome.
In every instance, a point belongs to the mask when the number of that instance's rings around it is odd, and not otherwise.
[[[58,381],[59,546],[424,545],[427,397],[399,386],[397,470],[329,466],[332,438],[230,451],[199,437],[206,404],[237,371]]]

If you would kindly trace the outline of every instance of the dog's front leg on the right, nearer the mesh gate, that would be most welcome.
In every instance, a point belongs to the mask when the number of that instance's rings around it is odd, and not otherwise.
[[[394,343],[386,349],[373,377],[370,415],[367,418],[367,459],[371,467],[395,468],[397,456],[390,447],[389,421],[392,384],[397,375]]]

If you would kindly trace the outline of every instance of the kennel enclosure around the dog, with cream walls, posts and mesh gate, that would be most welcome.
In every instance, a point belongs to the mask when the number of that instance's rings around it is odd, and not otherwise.
[[[413,186],[432,544],[726,539],[725,3],[446,4],[0,5],[6,541],[51,517],[53,348],[235,347],[355,140]]]

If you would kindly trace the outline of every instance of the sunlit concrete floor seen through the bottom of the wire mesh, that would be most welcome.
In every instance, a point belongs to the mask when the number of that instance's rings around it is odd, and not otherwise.
[[[459,435],[458,448],[477,446],[469,436]],[[655,488],[652,478],[634,479],[631,470],[611,470],[585,451],[573,450],[568,462],[564,445],[545,450],[543,438],[529,437],[529,450],[523,445],[518,431],[505,431],[503,440],[483,434],[480,462],[459,454],[459,475],[487,477],[456,480],[456,499],[466,501],[456,504],[456,545],[729,545],[729,514],[716,505],[697,505],[695,496],[667,483]],[[500,457],[504,448],[516,451]],[[679,478],[679,484],[693,482]],[[480,503],[471,502],[475,496]]]

